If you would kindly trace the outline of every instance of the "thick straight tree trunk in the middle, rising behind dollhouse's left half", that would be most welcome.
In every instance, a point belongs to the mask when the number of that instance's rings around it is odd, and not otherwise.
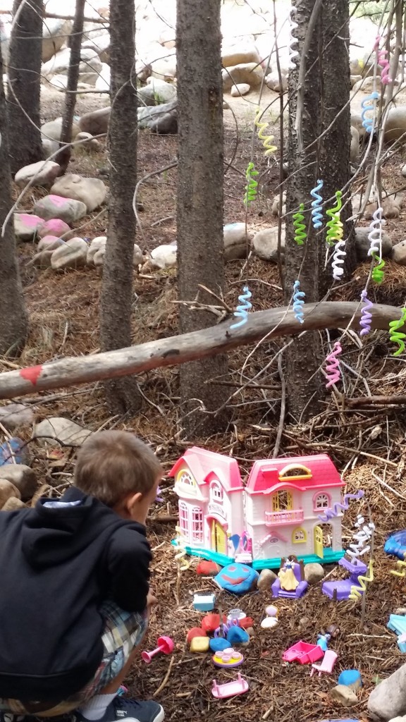
[[[178,290],[183,301],[202,303],[224,287],[223,258],[223,79],[221,74],[221,0],[177,0],[178,63]],[[181,333],[204,329],[212,314],[181,305]],[[227,373],[217,356],[185,364],[180,370],[182,426],[189,437],[223,430],[225,412],[214,412],[227,389],[210,379]]]

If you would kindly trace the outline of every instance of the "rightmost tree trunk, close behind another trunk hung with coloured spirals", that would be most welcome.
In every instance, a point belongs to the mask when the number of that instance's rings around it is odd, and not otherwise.
[[[348,0],[334,0],[324,3],[322,14],[322,48],[321,64],[321,132],[331,129],[323,136],[320,144],[320,178],[324,180],[324,199],[334,199],[335,191],[344,188],[350,180],[350,60],[349,38],[350,20]],[[352,214],[350,192],[347,191],[342,201],[345,207],[341,212],[344,223],[345,275],[351,274],[356,266],[355,232],[353,222],[346,223]],[[332,208],[334,201],[324,205],[324,209]],[[321,269],[324,269],[326,248],[319,244]],[[329,254],[331,256],[331,252]],[[320,274],[320,290],[324,295],[332,285],[331,262]]]

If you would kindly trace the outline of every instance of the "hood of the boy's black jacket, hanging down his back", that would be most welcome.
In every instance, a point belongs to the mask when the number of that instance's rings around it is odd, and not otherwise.
[[[49,505],[51,501],[53,503]],[[98,523],[90,524],[91,515],[94,520],[95,506],[98,507]],[[102,530],[108,530],[110,534],[113,527],[125,523],[98,499],[76,487],[71,487],[58,503],[46,498],[38,500],[34,512],[22,526],[21,543],[27,562],[37,569],[77,557]],[[100,524],[102,519],[103,524]]]

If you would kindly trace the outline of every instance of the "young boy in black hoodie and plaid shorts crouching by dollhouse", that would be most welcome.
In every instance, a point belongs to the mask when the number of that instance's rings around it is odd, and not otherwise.
[[[133,434],[102,431],[60,500],[0,512],[1,722],[163,720],[120,686],[156,603],[144,525],[162,475]]]

